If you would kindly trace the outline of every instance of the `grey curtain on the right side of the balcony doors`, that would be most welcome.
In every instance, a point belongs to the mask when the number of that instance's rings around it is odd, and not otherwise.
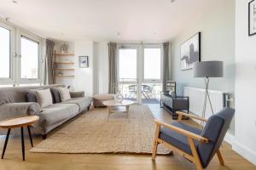
[[[169,42],[163,43],[163,91],[166,91],[166,82],[170,78],[169,69]]]

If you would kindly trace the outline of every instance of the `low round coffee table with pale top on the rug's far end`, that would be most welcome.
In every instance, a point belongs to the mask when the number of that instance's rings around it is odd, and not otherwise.
[[[107,100],[102,103],[103,105],[108,106],[108,116],[111,113],[127,113],[129,114],[130,105],[135,104],[134,101],[124,99],[122,102],[116,102],[114,100]],[[107,119],[108,122],[108,119]]]

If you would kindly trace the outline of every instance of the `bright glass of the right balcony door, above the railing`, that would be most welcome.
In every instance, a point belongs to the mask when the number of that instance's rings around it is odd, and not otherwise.
[[[144,79],[161,79],[160,48],[144,48]]]

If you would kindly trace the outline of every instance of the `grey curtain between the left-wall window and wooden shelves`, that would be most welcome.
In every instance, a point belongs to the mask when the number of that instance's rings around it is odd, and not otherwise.
[[[44,84],[55,83],[54,47],[55,42],[47,39],[45,42]]]

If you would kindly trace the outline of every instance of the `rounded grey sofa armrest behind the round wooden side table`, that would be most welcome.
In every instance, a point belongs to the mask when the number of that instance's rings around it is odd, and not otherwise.
[[[38,115],[40,111],[41,108],[38,103],[8,103],[0,105],[0,120],[2,121],[15,116]]]

